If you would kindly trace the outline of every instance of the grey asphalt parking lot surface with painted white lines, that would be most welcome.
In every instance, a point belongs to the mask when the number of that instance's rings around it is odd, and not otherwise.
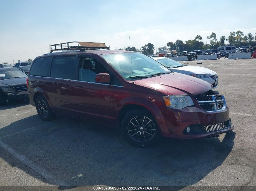
[[[0,186],[256,186],[256,59],[197,62],[183,63],[217,72],[234,132],[134,148],[117,129],[61,115],[45,122],[12,103],[0,107]]]

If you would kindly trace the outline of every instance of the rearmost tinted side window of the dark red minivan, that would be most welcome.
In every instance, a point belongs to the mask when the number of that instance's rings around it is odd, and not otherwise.
[[[45,76],[50,75],[52,57],[45,57],[37,59],[31,66],[30,75]]]

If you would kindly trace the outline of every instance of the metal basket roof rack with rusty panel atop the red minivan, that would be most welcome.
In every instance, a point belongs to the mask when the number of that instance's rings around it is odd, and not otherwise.
[[[70,45],[70,43],[78,43],[78,46]],[[80,46],[79,46],[80,44]],[[79,41],[72,41],[67,43],[59,43],[59,44],[52,44],[54,49],[51,49],[51,53],[55,51],[67,51],[67,50],[98,50],[98,49],[108,49],[105,43],[92,43],[92,42],[79,42]]]

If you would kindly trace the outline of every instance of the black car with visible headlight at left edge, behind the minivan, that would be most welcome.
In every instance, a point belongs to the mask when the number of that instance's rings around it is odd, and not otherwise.
[[[0,68],[0,105],[11,100],[28,100],[28,75],[14,67]]]

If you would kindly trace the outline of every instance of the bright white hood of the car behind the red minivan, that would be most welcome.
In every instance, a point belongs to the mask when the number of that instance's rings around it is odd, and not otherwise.
[[[181,72],[182,71],[187,71],[189,74],[212,74],[214,73],[214,71],[208,69],[208,68],[204,68],[204,67],[200,67],[200,66],[182,66],[182,67],[178,67],[178,68],[170,68],[171,71],[174,72]],[[187,74],[186,72],[186,74]]]

